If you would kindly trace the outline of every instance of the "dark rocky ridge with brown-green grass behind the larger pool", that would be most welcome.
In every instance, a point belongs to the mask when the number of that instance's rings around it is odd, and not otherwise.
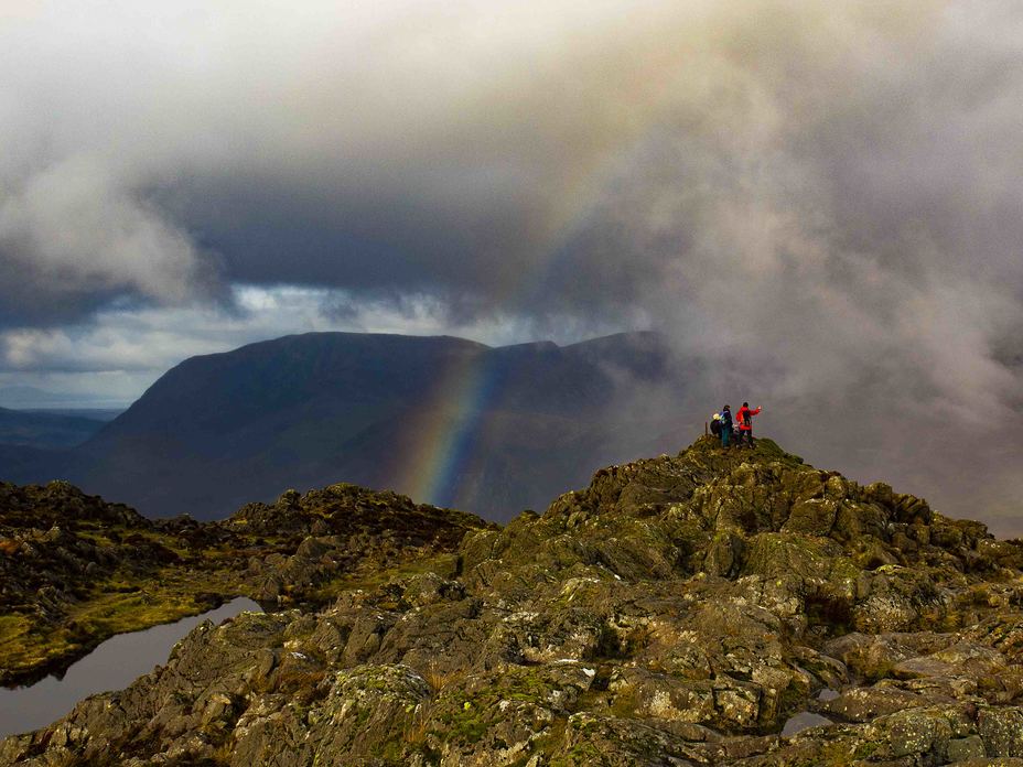
[[[394,571],[453,573],[467,514],[333,485],[222,522],[149,520],[67,483],[0,483],[0,683],[66,668],[104,639],[234,596],[312,608]]]

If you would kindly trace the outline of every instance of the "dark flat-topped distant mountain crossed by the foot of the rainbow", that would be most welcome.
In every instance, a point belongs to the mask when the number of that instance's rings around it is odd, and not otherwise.
[[[288,336],[183,361],[66,462],[6,478],[64,476],[150,516],[203,519],[352,482],[504,520],[593,466],[676,444],[637,401],[680,378],[649,333],[498,348]]]

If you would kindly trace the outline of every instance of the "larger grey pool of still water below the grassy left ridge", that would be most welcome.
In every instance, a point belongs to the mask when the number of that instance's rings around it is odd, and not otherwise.
[[[239,597],[177,623],[110,637],[73,663],[63,679],[46,677],[29,687],[0,688],[0,737],[45,727],[67,714],[83,698],[128,687],[155,666],[165,663],[174,645],[203,620],[219,624],[244,611],[261,613],[262,608]]]

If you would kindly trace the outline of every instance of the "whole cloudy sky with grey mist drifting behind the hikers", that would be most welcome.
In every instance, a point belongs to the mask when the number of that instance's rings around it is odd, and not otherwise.
[[[1023,515],[1019,2],[6,0],[0,67],[0,387],[656,330],[706,410]]]

